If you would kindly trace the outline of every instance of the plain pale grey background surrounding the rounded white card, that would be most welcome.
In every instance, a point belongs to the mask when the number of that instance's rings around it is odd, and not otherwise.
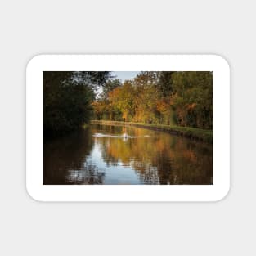
[[[254,255],[254,11],[254,1],[2,1],[0,254]],[[227,198],[155,204],[31,200],[25,191],[25,65],[39,53],[224,56],[232,88]]]

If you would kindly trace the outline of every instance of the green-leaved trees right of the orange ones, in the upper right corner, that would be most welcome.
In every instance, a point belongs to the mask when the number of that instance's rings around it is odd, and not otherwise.
[[[177,124],[213,128],[212,72],[176,72],[173,74],[173,91]]]

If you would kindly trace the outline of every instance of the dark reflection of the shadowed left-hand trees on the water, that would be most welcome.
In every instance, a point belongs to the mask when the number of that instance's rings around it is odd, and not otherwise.
[[[85,164],[92,143],[89,129],[44,141],[43,184],[101,184],[104,173],[93,164]]]

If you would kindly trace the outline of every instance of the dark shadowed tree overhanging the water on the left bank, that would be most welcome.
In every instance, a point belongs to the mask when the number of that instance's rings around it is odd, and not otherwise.
[[[92,117],[93,91],[109,72],[43,72],[43,132],[58,135]]]

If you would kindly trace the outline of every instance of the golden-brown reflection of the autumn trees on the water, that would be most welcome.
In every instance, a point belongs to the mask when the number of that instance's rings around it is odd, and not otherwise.
[[[213,149],[168,133],[133,128],[128,141],[97,137],[109,165],[130,165],[146,184],[211,184]],[[151,137],[144,137],[145,135]]]

